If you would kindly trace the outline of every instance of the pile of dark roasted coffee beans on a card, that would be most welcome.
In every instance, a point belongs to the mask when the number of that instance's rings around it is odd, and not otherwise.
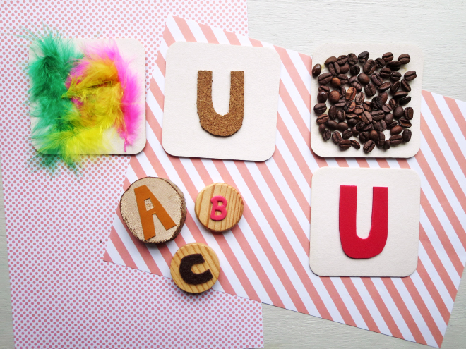
[[[322,73],[321,64],[313,66],[312,75],[319,84],[314,112],[324,140],[331,138],[342,150],[360,149],[362,144],[366,153],[374,147],[388,150],[410,142],[414,113],[406,104],[411,102],[410,81],[416,72],[407,71],[404,76],[398,72],[410,63],[409,54],[401,54],[396,61],[393,58],[387,52],[369,59],[369,52],[364,51],[358,56],[329,57],[324,63],[326,73]],[[386,130],[390,130],[388,139]]]

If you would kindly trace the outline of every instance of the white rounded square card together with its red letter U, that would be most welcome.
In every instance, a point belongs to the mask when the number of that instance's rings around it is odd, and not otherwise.
[[[324,167],[311,183],[309,264],[319,276],[409,276],[421,180],[410,169]]]

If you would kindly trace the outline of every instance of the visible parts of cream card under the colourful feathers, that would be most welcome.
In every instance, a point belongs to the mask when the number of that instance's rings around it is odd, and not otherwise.
[[[126,152],[124,150],[124,140],[114,130],[109,128],[104,131],[104,137],[109,142],[109,148],[107,152],[99,152],[97,154],[138,154],[145,147],[145,51],[141,42],[136,39],[112,39],[117,43],[117,47],[121,54],[121,57],[129,62],[129,69],[132,73],[138,76],[139,86],[139,110],[141,111],[138,117],[138,133],[132,145],[126,146]],[[76,47],[80,48],[85,45],[98,45],[109,42],[109,39],[73,39],[76,43]],[[29,51],[30,61],[34,59],[32,50]],[[31,109],[34,105],[31,104]],[[33,127],[37,123],[35,118],[31,117],[31,126]],[[37,144],[32,140],[32,145],[37,149]],[[38,149],[37,149],[38,150]],[[92,153],[95,154],[95,153]]]

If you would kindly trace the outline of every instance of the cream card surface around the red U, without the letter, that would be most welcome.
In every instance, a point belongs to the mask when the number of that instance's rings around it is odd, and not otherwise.
[[[340,185],[357,185],[357,235],[371,229],[372,188],[388,188],[388,238],[382,252],[353,259],[342,249]],[[409,276],[417,267],[421,181],[411,169],[324,167],[311,183],[309,265],[319,276]]]

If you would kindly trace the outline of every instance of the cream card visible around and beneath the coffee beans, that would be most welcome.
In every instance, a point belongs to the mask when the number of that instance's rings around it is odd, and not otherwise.
[[[411,92],[409,93],[411,97],[411,102],[405,106],[411,106],[414,109],[414,117],[411,120],[412,126],[410,130],[412,131],[412,137],[410,142],[402,143],[390,147],[388,150],[383,148],[374,147],[372,152],[366,154],[361,149],[355,149],[350,147],[347,150],[341,150],[340,147],[335,145],[332,140],[323,140],[322,135],[318,132],[318,124],[316,123],[317,115],[313,111],[313,106],[317,104],[317,94],[319,84],[317,78],[311,78],[311,148],[320,157],[398,157],[398,158],[408,158],[413,157],[418,151],[421,145],[421,99],[422,99],[422,71],[424,66],[424,55],[422,54],[419,47],[412,44],[322,44],[316,48],[315,53],[312,56],[313,66],[317,63],[320,63],[322,66],[322,73],[328,73],[328,69],[324,66],[324,62],[330,56],[340,56],[342,54],[354,53],[359,55],[362,51],[369,52],[369,59],[376,59],[381,57],[386,52],[392,52],[394,59],[398,59],[400,54],[409,54],[411,56],[410,63],[407,63],[404,66],[401,66],[398,72],[403,76],[407,71],[416,71],[417,78],[410,81]],[[321,73],[321,74],[322,74]],[[361,70],[362,73],[362,70]],[[350,78],[351,75],[347,73]],[[388,80],[384,80],[388,81]],[[390,82],[392,82],[390,80]],[[349,85],[345,85],[348,89]],[[332,88],[333,90],[333,88]],[[363,87],[364,91],[364,87]],[[376,95],[378,91],[376,92]],[[373,97],[366,100],[371,100]],[[375,96],[374,96],[375,97]],[[390,99],[390,91],[388,91],[388,99]],[[330,107],[330,102],[326,102],[327,111],[325,114],[328,114],[328,108]],[[385,132],[386,140],[390,137],[390,130]],[[350,139],[357,140],[359,138],[351,137]]]

